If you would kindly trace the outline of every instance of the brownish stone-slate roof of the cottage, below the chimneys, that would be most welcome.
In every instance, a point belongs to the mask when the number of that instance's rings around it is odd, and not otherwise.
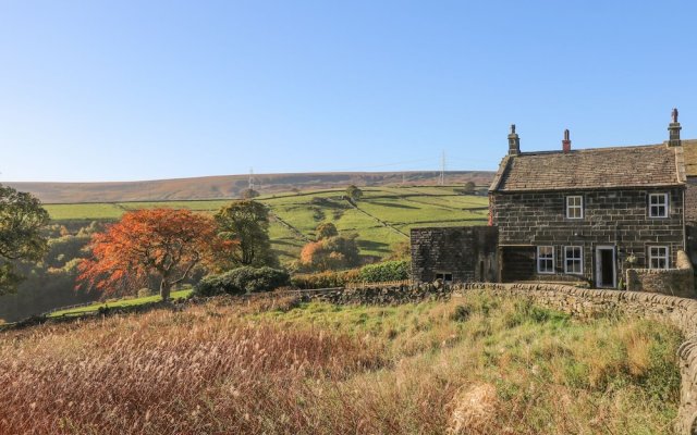
[[[697,174],[697,140],[694,152]],[[506,156],[489,190],[674,186],[684,181],[683,147],[661,144]]]

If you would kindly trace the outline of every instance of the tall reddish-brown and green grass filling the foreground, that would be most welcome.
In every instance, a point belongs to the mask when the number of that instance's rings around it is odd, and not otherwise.
[[[208,303],[0,340],[1,434],[659,434],[678,399],[675,330],[485,295]]]

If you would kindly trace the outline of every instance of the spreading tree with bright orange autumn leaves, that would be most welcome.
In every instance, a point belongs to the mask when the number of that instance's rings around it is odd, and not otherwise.
[[[209,216],[174,209],[132,211],[93,236],[93,258],[80,264],[78,281],[107,295],[134,293],[157,281],[168,300],[174,285],[212,263],[227,245]]]

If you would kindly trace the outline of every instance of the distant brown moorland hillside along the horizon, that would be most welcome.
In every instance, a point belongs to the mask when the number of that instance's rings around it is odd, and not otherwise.
[[[297,188],[326,189],[357,186],[436,185],[437,171],[431,172],[326,172],[301,174],[255,174],[255,188],[274,194]],[[451,171],[445,184],[474,182],[488,185],[493,172]],[[197,178],[157,179],[115,183],[4,183],[36,195],[46,203],[162,201],[186,199],[237,198],[247,188],[249,175],[221,175]]]

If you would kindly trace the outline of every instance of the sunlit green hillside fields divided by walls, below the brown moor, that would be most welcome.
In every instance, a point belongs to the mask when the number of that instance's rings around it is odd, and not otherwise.
[[[343,234],[357,234],[363,254],[384,257],[391,252],[392,246],[408,240],[408,232],[414,227],[486,224],[487,198],[460,195],[456,188],[366,187],[357,209],[342,199],[343,189],[278,194],[261,196],[257,200],[269,206],[272,214],[270,236],[283,261],[297,258],[303,245],[315,238],[315,228],[322,222],[334,223]],[[229,202],[154,201],[45,207],[54,221],[117,220],[130,210],[157,207],[212,213]]]

